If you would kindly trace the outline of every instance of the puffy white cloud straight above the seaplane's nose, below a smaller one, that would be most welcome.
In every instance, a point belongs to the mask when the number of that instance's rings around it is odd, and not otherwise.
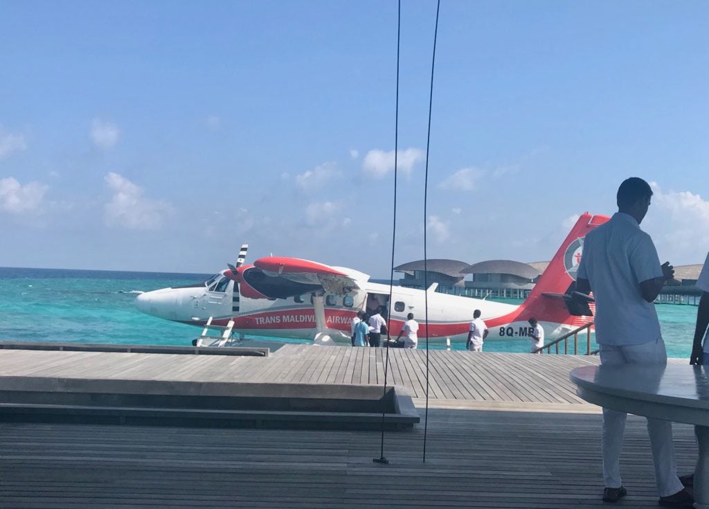
[[[169,203],[145,198],[142,187],[117,173],[107,174],[104,180],[113,191],[111,201],[104,206],[107,225],[128,230],[157,230],[164,216],[172,212]]]

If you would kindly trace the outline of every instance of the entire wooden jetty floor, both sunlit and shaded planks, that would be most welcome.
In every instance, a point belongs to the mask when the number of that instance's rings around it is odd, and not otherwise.
[[[286,345],[268,357],[0,350],[4,376],[381,385],[382,349]],[[1,508],[593,508],[601,415],[569,370],[596,357],[390,349],[422,423],[386,432],[0,423]],[[677,359],[673,362],[686,362]],[[675,425],[681,473],[693,429]],[[422,461],[426,436],[426,461]],[[623,452],[629,495],[654,508],[644,419]]]

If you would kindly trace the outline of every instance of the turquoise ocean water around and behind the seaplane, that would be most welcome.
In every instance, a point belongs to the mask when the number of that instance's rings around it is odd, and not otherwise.
[[[210,275],[0,267],[0,341],[191,345],[201,328],[144,315],[133,301],[143,291],[205,281]],[[696,306],[656,306],[667,354],[688,359]],[[579,349],[583,351],[585,345],[584,333]],[[491,340],[485,342],[484,350],[525,353],[529,346],[528,340]],[[464,349],[462,342],[452,347]]]

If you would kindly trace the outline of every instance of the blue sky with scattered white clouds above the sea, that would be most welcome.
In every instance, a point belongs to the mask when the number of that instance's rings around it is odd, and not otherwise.
[[[0,266],[388,277],[396,1],[6,1]],[[549,259],[652,181],[661,259],[709,250],[709,3],[402,5],[395,263]]]

